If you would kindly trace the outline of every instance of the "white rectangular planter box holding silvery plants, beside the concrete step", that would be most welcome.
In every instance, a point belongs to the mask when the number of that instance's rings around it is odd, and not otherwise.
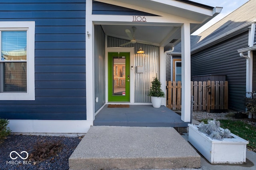
[[[211,164],[246,163],[246,145],[249,143],[248,141],[233,133],[230,135],[234,138],[225,138],[222,141],[211,139],[208,135],[198,131],[196,125],[188,124],[188,127],[188,141]]]

